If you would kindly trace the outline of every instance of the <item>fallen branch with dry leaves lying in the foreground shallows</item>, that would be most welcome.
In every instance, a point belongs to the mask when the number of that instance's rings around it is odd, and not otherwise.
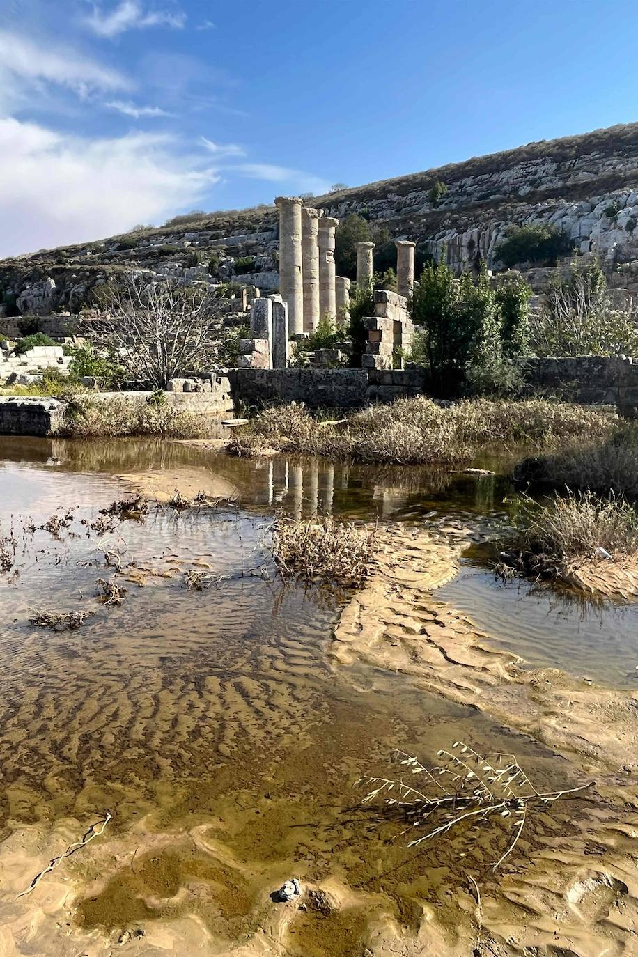
[[[505,827],[505,850],[492,864],[496,870],[509,857],[522,834],[530,808],[547,807],[561,797],[571,797],[593,784],[557,791],[537,790],[514,754],[482,755],[463,742],[437,752],[440,764],[426,768],[416,758],[399,752],[409,774],[387,779],[365,776],[357,782],[371,790],[363,798],[370,804],[382,798],[392,819],[405,823],[402,834],[413,835],[408,847],[418,847],[432,837],[447,835],[452,828],[496,823]],[[415,778],[423,782],[414,787]],[[425,833],[422,833],[424,832]]]

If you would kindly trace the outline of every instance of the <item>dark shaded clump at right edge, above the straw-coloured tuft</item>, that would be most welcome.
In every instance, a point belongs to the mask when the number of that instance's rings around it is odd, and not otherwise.
[[[629,426],[604,442],[571,442],[555,455],[526,458],[514,478],[531,485],[588,488],[638,498],[638,429]]]

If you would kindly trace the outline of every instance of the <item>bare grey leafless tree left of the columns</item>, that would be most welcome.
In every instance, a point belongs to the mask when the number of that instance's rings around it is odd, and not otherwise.
[[[205,287],[127,274],[99,290],[98,345],[133,378],[165,389],[185,369],[214,365],[220,324],[216,305]]]

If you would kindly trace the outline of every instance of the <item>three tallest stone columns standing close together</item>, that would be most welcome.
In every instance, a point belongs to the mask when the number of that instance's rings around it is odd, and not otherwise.
[[[279,292],[288,303],[290,335],[312,332],[322,316],[338,315],[335,230],[339,219],[304,207],[298,196],[277,196]],[[342,291],[341,291],[342,298]]]

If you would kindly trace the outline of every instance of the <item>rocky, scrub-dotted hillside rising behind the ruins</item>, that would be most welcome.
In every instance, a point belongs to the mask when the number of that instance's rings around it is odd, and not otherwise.
[[[438,203],[430,190],[447,188]],[[393,238],[416,240],[460,270],[477,256],[493,267],[513,223],[551,223],[609,269],[638,260],[638,123],[540,142],[312,199],[327,214],[352,212]],[[274,207],[211,213],[82,246],[0,262],[0,301],[11,312],[77,312],[96,285],[122,270],[278,285]]]

